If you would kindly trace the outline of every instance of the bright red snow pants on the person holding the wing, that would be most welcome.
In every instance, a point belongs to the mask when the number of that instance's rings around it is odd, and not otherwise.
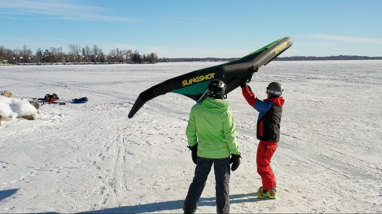
[[[257,147],[257,172],[261,176],[263,189],[270,190],[276,187],[276,177],[270,168],[270,159],[277,149],[277,142],[269,142],[260,140]]]

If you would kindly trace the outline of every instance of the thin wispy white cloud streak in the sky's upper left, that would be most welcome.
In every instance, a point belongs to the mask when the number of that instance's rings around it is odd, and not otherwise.
[[[17,16],[47,15],[49,18],[66,20],[97,20],[97,21],[121,21],[135,22],[136,18],[100,15],[112,11],[107,8],[91,5],[66,4],[55,1],[24,1],[3,0],[0,8],[11,9],[11,12],[0,12],[0,14],[14,14]]]

